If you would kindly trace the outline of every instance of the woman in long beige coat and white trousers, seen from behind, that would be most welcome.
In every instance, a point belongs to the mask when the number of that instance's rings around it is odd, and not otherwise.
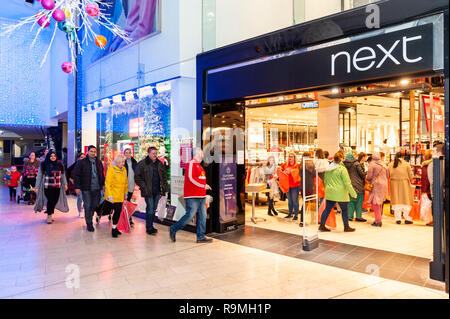
[[[414,202],[413,190],[411,189],[411,182],[414,176],[411,166],[403,158],[404,154],[397,152],[394,162],[388,166],[391,180],[391,207],[397,224],[402,222],[402,214],[405,217],[405,224],[412,224],[409,212]]]

